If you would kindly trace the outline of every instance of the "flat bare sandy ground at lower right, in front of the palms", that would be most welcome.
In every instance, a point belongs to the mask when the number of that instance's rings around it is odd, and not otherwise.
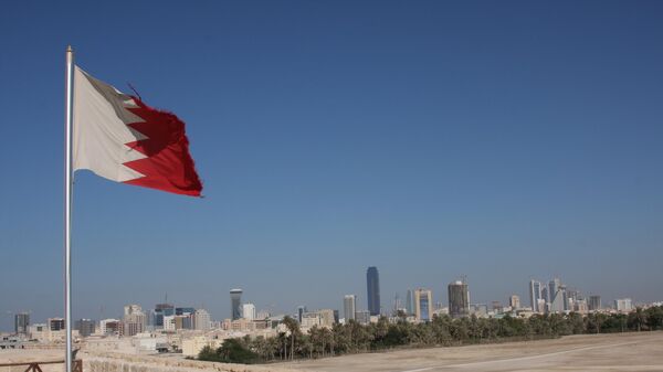
[[[663,332],[400,350],[283,363],[327,372],[663,371]]]

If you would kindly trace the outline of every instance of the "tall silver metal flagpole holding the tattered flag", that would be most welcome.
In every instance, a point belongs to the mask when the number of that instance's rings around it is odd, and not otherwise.
[[[66,107],[64,117],[64,318],[66,350],[64,364],[72,372],[72,128],[74,110],[74,50],[66,47]]]

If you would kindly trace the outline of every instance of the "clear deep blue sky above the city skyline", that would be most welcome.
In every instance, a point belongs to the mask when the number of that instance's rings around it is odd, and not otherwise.
[[[64,50],[185,121],[193,199],[76,174],[74,317],[663,299],[663,2],[6,1],[0,329],[62,316]]]

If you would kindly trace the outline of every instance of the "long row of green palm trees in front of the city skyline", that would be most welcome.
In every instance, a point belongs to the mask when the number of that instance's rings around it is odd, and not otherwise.
[[[276,337],[235,339],[218,350],[203,350],[199,359],[243,363],[271,362],[392,348],[451,347],[567,334],[663,330],[663,306],[638,308],[628,315],[593,312],[582,316],[571,312],[534,315],[529,318],[472,316],[457,319],[442,315],[420,323],[408,322],[404,318],[390,322],[381,317],[376,323],[365,326],[350,320],[345,325],[336,323],[332,328],[313,327],[307,333],[302,332],[299,323],[293,318],[285,317],[283,323],[286,331]],[[232,357],[234,354],[240,357]]]

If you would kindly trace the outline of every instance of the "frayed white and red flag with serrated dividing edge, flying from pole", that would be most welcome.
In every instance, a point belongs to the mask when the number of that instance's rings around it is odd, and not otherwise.
[[[200,196],[185,123],[74,67],[73,169]]]

